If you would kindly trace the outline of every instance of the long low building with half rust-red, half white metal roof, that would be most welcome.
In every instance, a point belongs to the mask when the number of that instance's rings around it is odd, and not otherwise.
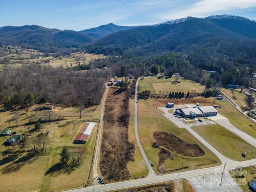
[[[74,139],[73,143],[76,144],[85,144],[90,137],[90,134],[92,133],[92,130],[94,128],[96,123],[94,122],[86,122],[76,138]]]

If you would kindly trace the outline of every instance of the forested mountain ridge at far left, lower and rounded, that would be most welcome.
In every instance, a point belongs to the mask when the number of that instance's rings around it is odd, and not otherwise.
[[[0,28],[0,45],[15,44],[42,52],[57,52],[58,49],[79,48],[94,38],[72,30],[48,29],[37,25],[4,26]]]

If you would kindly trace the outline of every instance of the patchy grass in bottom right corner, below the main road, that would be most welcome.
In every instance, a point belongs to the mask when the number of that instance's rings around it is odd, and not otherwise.
[[[244,174],[244,178],[238,178],[237,174],[238,175]],[[254,179],[254,176],[255,176],[254,166],[243,168],[243,169],[241,168],[238,170],[232,170],[230,171],[230,175],[232,176],[236,184],[241,188],[243,192],[251,192],[248,186],[248,182]]]

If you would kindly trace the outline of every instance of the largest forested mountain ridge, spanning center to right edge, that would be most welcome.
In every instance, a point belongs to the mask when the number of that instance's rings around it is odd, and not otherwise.
[[[94,53],[147,56],[207,48],[234,57],[255,53],[255,28],[256,22],[251,20],[189,17],[182,22],[119,31],[95,40],[85,48]]]

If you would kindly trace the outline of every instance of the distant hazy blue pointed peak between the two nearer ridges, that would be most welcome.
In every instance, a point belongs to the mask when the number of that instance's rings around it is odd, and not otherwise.
[[[117,26],[113,23],[109,23],[107,25],[101,25],[99,27],[90,28],[90,29],[79,31],[79,32],[88,34],[89,36],[98,39],[98,38],[101,38],[103,36],[109,35],[111,33],[117,32],[117,31],[132,29],[132,28],[136,28],[136,27],[137,26]]]

